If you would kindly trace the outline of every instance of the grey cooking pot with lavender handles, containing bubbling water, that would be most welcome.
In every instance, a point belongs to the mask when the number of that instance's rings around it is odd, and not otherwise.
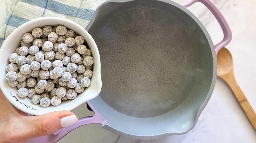
[[[185,7],[203,3],[224,33],[217,45]],[[86,27],[101,57],[102,89],[87,102],[95,115],[40,138],[56,142],[91,123],[134,139],[185,134],[196,124],[216,81],[216,53],[231,30],[210,0],[115,0],[100,5]],[[38,142],[38,138],[31,142]]]

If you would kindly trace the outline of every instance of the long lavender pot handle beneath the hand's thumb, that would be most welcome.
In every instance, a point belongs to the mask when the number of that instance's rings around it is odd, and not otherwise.
[[[90,117],[83,117],[78,119],[78,122],[76,122],[73,125],[70,125],[68,127],[62,128],[58,130],[57,132],[51,134],[51,135],[45,135],[40,136],[37,138],[33,138],[29,140],[27,143],[56,143],[60,139],[62,139],[65,135],[73,131],[74,129],[86,125],[86,124],[102,124],[104,126],[107,123],[107,120],[102,117],[92,106],[92,104],[88,101],[87,104],[90,106],[90,108],[94,112],[94,116]]]

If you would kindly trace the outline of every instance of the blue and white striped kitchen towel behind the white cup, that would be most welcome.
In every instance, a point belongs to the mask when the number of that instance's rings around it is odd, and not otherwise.
[[[61,17],[86,27],[96,8],[107,0],[20,0],[0,29],[0,45],[23,23],[38,17]]]

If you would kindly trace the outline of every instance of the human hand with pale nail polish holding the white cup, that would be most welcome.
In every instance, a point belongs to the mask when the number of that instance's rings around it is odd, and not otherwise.
[[[50,135],[78,121],[70,111],[56,111],[28,117],[16,109],[0,89],[0,142],[24,143],[32,138]]]

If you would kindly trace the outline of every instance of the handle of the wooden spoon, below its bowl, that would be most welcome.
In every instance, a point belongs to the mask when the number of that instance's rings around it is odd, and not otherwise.
[[[241,90],[239,85],[237,84],[235,77],[234,77],[234,73],[229,72],[229,74],[225,76],[224,80],[229,85],[229,87],[232,89],[237,101],[239,102],[240,106],[242,107],[242,109],[245,112],[245,115],[250,120],[254,130],[256,131],[256,114],[255,114],[253,108],[251,107],[250,103],[246,99],[245,94],[243,93],[243,91]]]

